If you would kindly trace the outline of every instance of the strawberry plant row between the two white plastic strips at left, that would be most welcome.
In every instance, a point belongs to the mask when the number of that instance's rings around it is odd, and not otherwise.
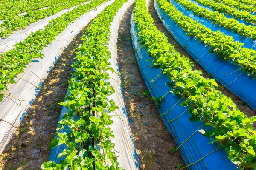
[[[41,51],[45,45],[55,40],[58,34],[82,14],[91,11],[94,7],[106,1],[108,0],[93,0],[83,6],[74,8],[72,11],[51,20],[43,30],[31,33],[23,42],[15,44],[14,49],[0,54],[0,102],[3,99],[4,91],[7,90],[7,85],[16,83],[15,77],[23,72],[26,64],[31,62],[31,59],[43,57]]]

